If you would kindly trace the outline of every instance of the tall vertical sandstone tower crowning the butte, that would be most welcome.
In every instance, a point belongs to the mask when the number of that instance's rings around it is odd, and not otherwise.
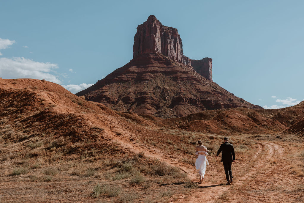
[[[191,64],[191,59],[183,55],[183,45],[177,29],[163,26],[153,15],[137,26],[134,36],[133,58],[148,53],[163,54],[183,64]]]

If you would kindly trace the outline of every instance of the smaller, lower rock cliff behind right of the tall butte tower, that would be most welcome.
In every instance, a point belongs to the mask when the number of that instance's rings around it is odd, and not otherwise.
[[[191,66],[204,78],[212,81],[212,58],[202,60],[191,60]]]

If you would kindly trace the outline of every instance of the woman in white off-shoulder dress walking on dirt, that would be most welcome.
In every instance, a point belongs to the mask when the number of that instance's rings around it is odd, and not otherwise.
[[[200,184],[204,181],[204,175],[206,171],[206,166],[209,165],[208,160],[206,156],[207,153],[207,147],[205,147],[201,140],[197,141],[199,143],[199,146],[195,147],[195,155],[196,155],[196,161],[195,161],[195,168],[197,172],[199,172],[199,178],[200,178]]]

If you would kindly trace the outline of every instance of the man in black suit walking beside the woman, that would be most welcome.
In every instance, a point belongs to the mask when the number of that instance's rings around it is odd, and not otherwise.
[[[228,138],[224,138],[224,143],[221,144],[219,147],[219,150],[216,153],[216,157],[219,156],[219,153],[222,152],[222,159],[223,162],[225,174],[226,174],[226,185],[230,185],[230,183],[233,182],[232,180],[232,170],[231,170],[231,164],[232,162],[235,162],[235,154],[234,154],[234,148],[233,145],[228,142]],[[230,176],[230,179],[229,179]]]

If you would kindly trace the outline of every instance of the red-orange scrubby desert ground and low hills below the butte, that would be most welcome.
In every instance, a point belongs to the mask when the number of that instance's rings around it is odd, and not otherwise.
[[[298,186],[304,174],[302,136],[275,135],[301,125],[303,103],[161,119],[113,111],[34,79],[0,79],[0,99],[0,201],[195,202],[200,197],[212,202],[223,195],[233,201],[303,201]],[[204,124],[195,125],[199,122]],[[237,187],[223,184],[222,165],[215,157],[221,134],[229,134],[237,153]],[[202,186],[195,183],[198,139],[210,153]],[[274,190],[278,181],[282,188]],[[208,196],[203,195],[206,188]]]

